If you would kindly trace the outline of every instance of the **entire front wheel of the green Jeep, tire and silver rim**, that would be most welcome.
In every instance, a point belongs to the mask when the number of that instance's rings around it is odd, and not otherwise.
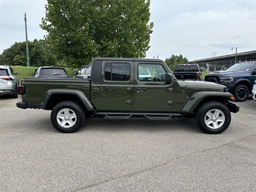
[[[196,124],[205,133],[219,134],[224,132],[230,122],[231,115],[228,108],[220,102],[202,104],[196,112]]]

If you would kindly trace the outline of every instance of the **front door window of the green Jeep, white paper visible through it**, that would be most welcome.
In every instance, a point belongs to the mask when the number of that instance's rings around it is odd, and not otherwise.
[[[165,81],[166,71],[159,64],[139,64],[138,80],[140,81]]]

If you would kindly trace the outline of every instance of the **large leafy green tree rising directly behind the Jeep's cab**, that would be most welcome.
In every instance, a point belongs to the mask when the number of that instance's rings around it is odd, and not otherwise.
[[[80,67],[93,57],[145,57],[150,0],[48,0],[42,29],[59,60]]]

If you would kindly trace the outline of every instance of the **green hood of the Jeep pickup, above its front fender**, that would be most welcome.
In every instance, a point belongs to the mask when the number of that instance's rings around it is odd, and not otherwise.
[[[213,82],[207,82],[207,81],[186,81],[187,88],[194,88],[194,89],[200,89],[200,90],[218,90],[223,91],[224,85],[216,84]]]

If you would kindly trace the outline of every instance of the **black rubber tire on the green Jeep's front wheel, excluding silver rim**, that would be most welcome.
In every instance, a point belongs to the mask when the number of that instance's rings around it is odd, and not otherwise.
[[[205,119],[208,119],[208,116],[206,116],[206,113],[210,112],[211,110],[212,110],[212,112],[214,112],[214,110],[215,110],[215,112],[217,110],[221,111],[220,114],[217,115],[218,116],[217,120],[216,120],[216,117],[214,117],[214,115],[212,116],[213,118],[210,117],[211,122],[213,122],[215,120],[217,125],[220,126],[218,128],[210,128],[206,125]],[[224,116],[223,116],[223,114],[224,114]],[[219,120],[220,120],[220,118],[223,118],[223,117],[224,117],[224,122],[222,124],[222,122],[219,122]],[[218,120],[218,118],[219,118],[219,120]],[[221,132],[224,132],[228,128],[228,126],[231,122],[231,114],[230,114],[229,109],[224,104],[222,104],[220,102],[206,102],[206,103],[202,104],[202,106],[200,106],[200,108],[198,108],[198,110],[196,111],[195,120],[196,120],[196,125],[203,132],[208,133],[208,134],[219,134]],[[209,126],[214,127],[214,124],[209,124]]]

